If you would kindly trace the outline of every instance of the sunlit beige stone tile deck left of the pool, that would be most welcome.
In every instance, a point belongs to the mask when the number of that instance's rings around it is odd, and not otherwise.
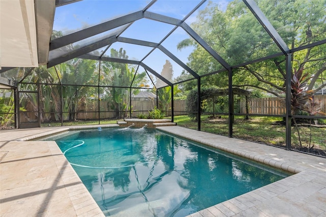
[[[28,141],[66,130],[0,131],[0,216],[104,216],[56,142]]]

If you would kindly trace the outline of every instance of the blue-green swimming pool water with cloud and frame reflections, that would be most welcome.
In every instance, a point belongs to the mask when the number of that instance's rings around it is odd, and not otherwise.
[[[288,176],[155,129],[47,140],[57,142],[105,215],[185,216]]]

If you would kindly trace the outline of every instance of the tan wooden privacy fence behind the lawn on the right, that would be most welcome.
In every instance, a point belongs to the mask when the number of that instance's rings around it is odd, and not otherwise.
[[[326,95],[315,95],[315,101],[319,103],[321,112],[326,113]],[[284,98],[250,98],[248,99],[249,114],[284,115]],[[240,113],[247,113],[246,99],[241,99]]]

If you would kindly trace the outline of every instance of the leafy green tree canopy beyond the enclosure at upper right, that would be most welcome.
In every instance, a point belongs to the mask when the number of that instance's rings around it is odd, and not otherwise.
[[[257,4],[290,49],[325,39],[325,0],[262,0]],[[192,28],[232,66],[281,52],[246,5],[239,0],[230,2],[226,9],[209,3],[198,13]],[[212,68],[215,71],[220,69],[220,66],[213,64],[211,56],[192,39],[181,41],[178,49],[187,46],[196,47],[188,57],[188,65],[194,71],[207,74]],[[325,44],[293,53],[292,65],[293,68],[304,68],[309,73],[310,90],[317,91],[326,86]],[[243,89],[257,88],[280,97],[285,92],[285,75],[285,57],[279,56],[233,69],[232,85]],[[227,74],[203,77],[202,84],[226,87]],[[191,86],[185,88],[191,89]]]

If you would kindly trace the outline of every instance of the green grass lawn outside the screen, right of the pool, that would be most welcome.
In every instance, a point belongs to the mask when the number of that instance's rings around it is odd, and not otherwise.
[[[201,116],[201,130],[228,136],[228,117],[211,119],[208,115]],[[285,125],[277,124],[282,121],[279,117],[251,117],[249,120],[243,116],[236,116],[233,123],[233,137],[260,142],[269,145],[285,147]],[[197,122],[188,116],[175,116],[174,122],[178,126],[197,129]],[[326,150],[326,127],[299,126],[302,145],[305,147],[314,146],[321,150]],[[310,132],[311,129],[311,132]],[[310,142],[311,133],[311,142]],[[297,131],[295,127],[291,129],[292,147],[300,147]]]

